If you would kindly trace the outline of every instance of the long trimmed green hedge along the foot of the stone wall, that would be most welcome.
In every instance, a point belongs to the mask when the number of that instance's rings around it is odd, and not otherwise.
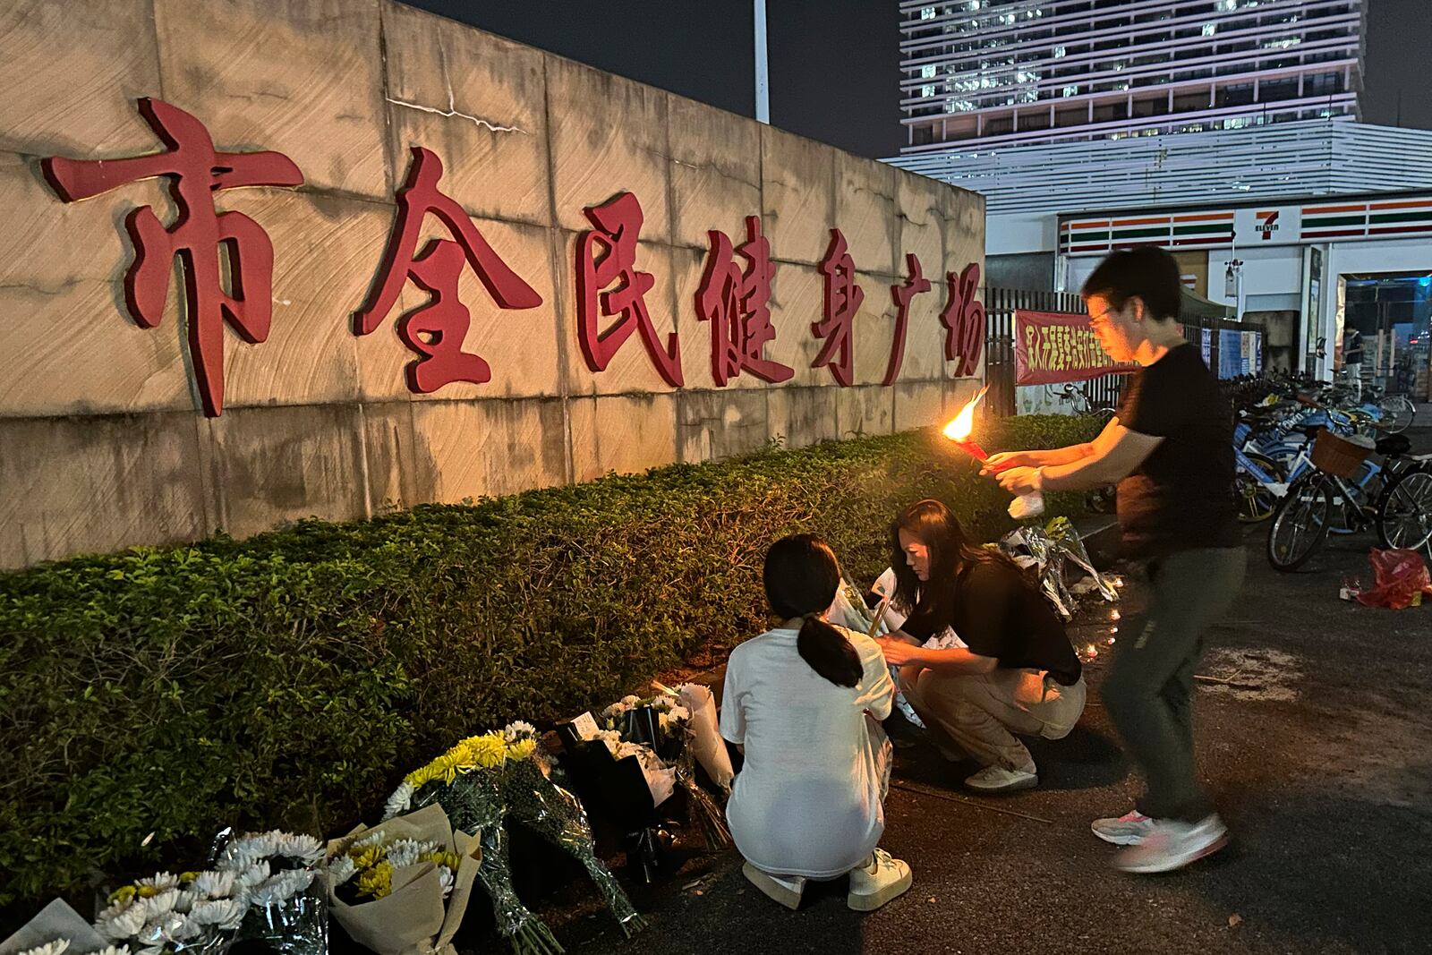
[[[988,444],[1090,437],[1015,418]],[[872,578],[925,495],[1008,527],[968,458],[911,432],[0,576],[0,903],[192,863],[223,825],[334,832],[461,735],[759,633],[782,534]]]

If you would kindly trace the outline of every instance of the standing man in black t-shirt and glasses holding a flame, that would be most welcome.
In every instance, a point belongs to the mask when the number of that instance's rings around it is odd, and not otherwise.
[[[1104,351],[1140,367],[1118,415],[1091,444],[997,454],[987,470],[1011,494],[1118,484],[1124,548],[1147,567],[1153,593],[1147,623],[1120,641],[1101,692],[1146,793],[1133,812],[1093,829],[1134,846],[1116,866],[1167,872],[1227,840],[1197,782],[1191,696],[1204,630],[1233,606],[1247,567],[1233,498],[1233,417],[1183,339],[1171,255],[1116,252],[1083,296]]]

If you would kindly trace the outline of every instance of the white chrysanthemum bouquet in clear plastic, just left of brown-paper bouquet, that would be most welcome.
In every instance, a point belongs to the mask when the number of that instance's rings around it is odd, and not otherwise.
[[[278,829],[239,836],[231,829],[221,832],[213,845],[213,873],[205,881],[231,886],[233,898],[243,902],[233,941],[261,942],[279,955],[326,955],[328,905],[318,881],[322,859],[322,843],[309,835]],[[196,916],[223,918],[228,908],[205,906]]]

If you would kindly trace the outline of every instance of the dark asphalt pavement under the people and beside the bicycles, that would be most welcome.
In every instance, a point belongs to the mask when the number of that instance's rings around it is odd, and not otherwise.
[[[1432,451],[1432,434],[1415,442]],[[878,912],[846,909],[843,879],[789,912],[735,852],[633,886],[650,926],[630,941],[590,903],[538,908],[584,954],[1432,951],[1432,606],[1339,600],[1343,577],[1368,574],[1370,535],[1332,538],[1292,576],[1269,568],[1264,537],[1247,534],[1247,584],[1200,670],[1200,767],[1234,833],[1217,856],[1164,876],[1108,868],[1117,849],[1088,823],[1126,812],[1138,783],[1095,660],[1075,732],[1031,742],[1035,790],[972,796],[972,766],[922,743],[898,752],[882,845],[915,885]],[[1124,624],[1140,597],[1131,583]]]

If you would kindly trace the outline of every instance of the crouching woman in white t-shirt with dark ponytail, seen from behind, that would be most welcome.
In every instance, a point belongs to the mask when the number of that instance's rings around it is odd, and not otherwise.
[[[770,610],[782,620],[736,647],[720,732],[745,753],[726,818],[743,872],[768,896],[800,905],[806,879],[851,873],[846,903],[876,909],[909,888],[909,866],[876,849],[885,832],[894,683],[879,646],[833,627],[841,567],[819,537],[766,553]]]

